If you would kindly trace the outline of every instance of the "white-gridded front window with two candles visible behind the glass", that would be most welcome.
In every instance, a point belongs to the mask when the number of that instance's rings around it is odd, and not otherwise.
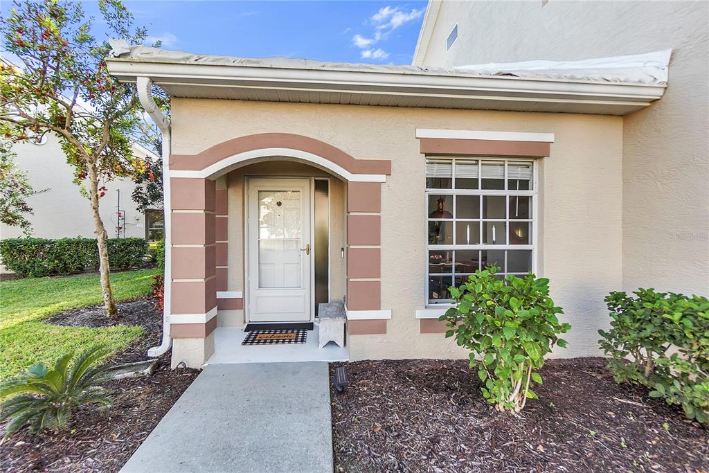
[[[532,270],[534,163],[523,160],[426,160],[428,304],[451,301],[477,269]]]

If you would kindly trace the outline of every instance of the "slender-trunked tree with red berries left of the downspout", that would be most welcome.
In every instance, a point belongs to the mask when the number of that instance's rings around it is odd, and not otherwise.
[[[100,0],[99,9],[109,35],[143,43],[145,28],[133,26],[120,0]],[[111,47],[91,34],[92,21],[84,18],[81,4],[66,0],[14,2],[9,16],[1,18],[0,35],[21,64],[1,65],[0,133],[12,141],[44,133],[60,139],[74,182],[91,202],[104,306],[116,317],[99,200],[105,182],[144,170],[132,156],[129,138],[141,120],[140,101],[132,84],[108,74],[104,58]]]

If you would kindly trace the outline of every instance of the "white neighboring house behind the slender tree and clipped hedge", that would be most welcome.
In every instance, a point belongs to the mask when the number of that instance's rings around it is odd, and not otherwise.
[[[154,153],[136,143],[132,148],[135,157],[153,161],[158,159]],[[42,144],[16,143],[12,150],[16,153],[16,164],[27,172],[32,187],[37,191],[47,189],[28,198],[28,204],[34,211],[34,215],[27,216],[32,223],[31,236],[95,238],[91,203],[72,181],[74,169],[67,164],[59,138],[48,133]],[[99,211],[108,238],[146,238],[148,228],[152,228],[150,239],[162,238],[162,211],[148,211],[146,215],[136,210],[131,198],[135,184],[131,179],[116,179],[105,186],[108,190],[99,201]],[[119,210],[121,218],[118,216]],[[1,238],[21,236],[20,228],[6,225],[0,228]]]

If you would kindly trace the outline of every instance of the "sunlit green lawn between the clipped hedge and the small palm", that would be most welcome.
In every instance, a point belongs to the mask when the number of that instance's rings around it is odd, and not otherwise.
[[[157,269],[111,275],[119,301],[150,293]],[[71,308],[101,304],[98,276],[40,277],[0,282],[0,379],[13,376],[34,362],[51,364],[62,353],[103,344],[114,351],[143,334],[143,328],[62,327],[43,319]]]

